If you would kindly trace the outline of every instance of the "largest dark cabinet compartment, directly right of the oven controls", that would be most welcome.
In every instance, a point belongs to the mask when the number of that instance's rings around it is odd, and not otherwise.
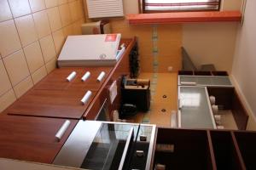
[[[154,164],[166,169],[216,169],[207,131],[158,128],[156,144],[173,144],[173,152],[155,151]]]

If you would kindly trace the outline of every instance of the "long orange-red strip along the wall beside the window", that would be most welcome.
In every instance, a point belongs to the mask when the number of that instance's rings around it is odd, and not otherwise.
[[[240,11],[127,14],[131,25],[241,21]]]

